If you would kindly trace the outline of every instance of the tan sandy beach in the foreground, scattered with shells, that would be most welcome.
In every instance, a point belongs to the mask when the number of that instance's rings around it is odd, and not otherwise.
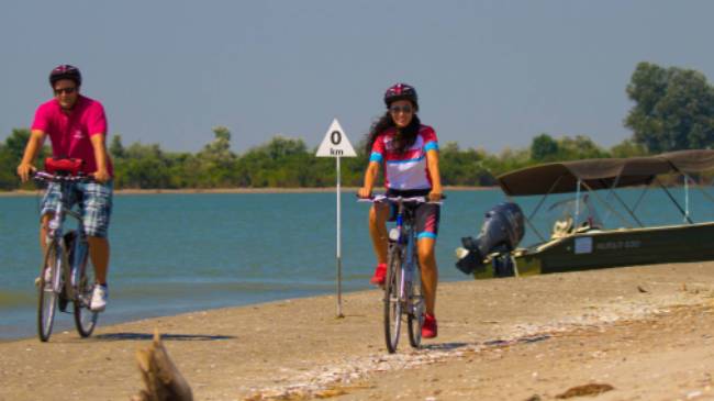
[[[713,297],[714,263],[443,283],[394,355],[377,290],[196,312],[0,343],[0,400],[127,400],[155,327],[196,400],[714,400]]]

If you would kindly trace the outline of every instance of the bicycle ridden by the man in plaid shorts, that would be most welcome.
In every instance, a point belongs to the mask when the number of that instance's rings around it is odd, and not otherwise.
[[[59,183],[59,201],[54,216],[48,222],[43,265],[37,282],[37,334],[47,342],[52,334],[55,313],[59,304],[65,311],[69,301],[74,305],[75,326],[82,337],[88,337],[97,325],[98,312],[89,308],[94,288],[93,269],[87,268],[88,242],[80,214],[66,208],[66,197],[71,183],[87,181],[87,176],[72,175],[65,170],[55,174],[37,171],[34,179],[41,182]],[[78,221],[78,229],[64,233],[64,223],[69,215]]]

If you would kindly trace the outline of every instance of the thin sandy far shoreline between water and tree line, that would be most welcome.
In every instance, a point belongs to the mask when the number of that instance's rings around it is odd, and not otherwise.
[[[494,190],[499,187],[444,187],[445,191],[487,191]],[[359,187],[342,187],[343,192],[357,192]],[[380,189],[381,190],[381,189]],[[42,189],[36,190],[12,190],[0,191],[0,198],[11,197],[34,197],[42,193]],[[304,188],[186,188],[186,189],[116,189],[114,194],[193,194],[193,193],[323,193],[335,192],[336,187],[304,187]],[[378,191],[379,192],[379,191]]]

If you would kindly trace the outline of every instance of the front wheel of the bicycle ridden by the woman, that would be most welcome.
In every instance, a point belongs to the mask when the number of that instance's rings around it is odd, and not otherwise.
[[[384,282],[384,339],[390,354],[397,352],[399,332],[402,326],[402,300],[400,285],[402,281],[402,248],[390,244],[387,281]]]

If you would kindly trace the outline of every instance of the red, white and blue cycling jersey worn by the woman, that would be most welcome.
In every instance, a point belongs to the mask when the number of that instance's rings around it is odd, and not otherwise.
[[[383,163],[384,186],[388,189],[414,190],[431,189],[432,177],[428,174],[426,153],[438,151],[436,132],[428,125],[422,125],[414,144],[403,153],[393,147],[395,129],[388,129],[377,136],[372,145],[370,161]]]

